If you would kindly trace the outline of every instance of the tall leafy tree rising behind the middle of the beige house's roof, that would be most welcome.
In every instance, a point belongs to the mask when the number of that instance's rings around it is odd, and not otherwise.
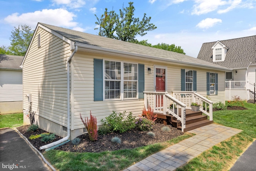
[[[98,35],[126,42],[136,42],[138,41],[135,39],[137,35],[144,36],[147,31],[156,29],[156,26],[150,23],[151,17],[146,17],[146,14],[141,21],[139,18],[133,17],[135,11],[133,2],[129,2],[129,7],[124,8],[123,6],[119,11],[120,15],[116,14],[114,10],[108,12],[106,8],[100,18],[95,15],[98,20],[95,24],[100,26]],[[95,28],[95,30],[97,29]]]

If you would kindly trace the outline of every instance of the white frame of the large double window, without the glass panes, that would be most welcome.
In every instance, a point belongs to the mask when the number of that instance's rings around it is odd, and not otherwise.
[[[105,82],[108,81],[108,79],[105,79],[105,61],[112,61],[112,62],[120,62],[121,63],[121,79],[116,80],[120,81],[120,98],[116,99],[106,99],[105,98]],[[128,64],[136,64],[137,65],[137,80],[124,80],[124,63]],[[113,101],[113,100],[131,100],[131,99],[138,99],[138,63],[135,62],[126,62],[126,61],[119,61],[119,60],[108,60],[108,59],[103,59],[103,100],[104,101]],[[114,81],[114,80],[113,80]],[[124,82],[129,81],[129,82],[136,82],[136,97],[132,98],[124,98]]]

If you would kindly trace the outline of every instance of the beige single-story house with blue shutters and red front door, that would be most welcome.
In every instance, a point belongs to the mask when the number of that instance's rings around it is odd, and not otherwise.
[[[184,54],[42,23],[22,67],[24,109],[32,104],[40,128],[62,137],[71,130],[70,139],[86,132],[80,113],[90,117],[90,110],[101,125],[112,111],[138,117],[144,105],[164,113],[176,103],[185,127],[185,109],[191,109],[192,101],[201,103],[209,95],[224,103],[228,71]]]

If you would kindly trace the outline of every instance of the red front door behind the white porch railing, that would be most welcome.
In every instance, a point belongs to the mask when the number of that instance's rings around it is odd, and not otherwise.
[[[165,91],[165,69],[156,68],[156,91]],[[160,105],[161,101],[161,105]],[[163,96],[158,98],[158,107],[163,106]]]

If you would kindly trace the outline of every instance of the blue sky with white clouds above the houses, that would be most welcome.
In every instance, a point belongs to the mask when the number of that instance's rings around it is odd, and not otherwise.
[[[130,0],[0,0],[0,46],[10,46],[18,25],[38,22],[97,34],[96,14],[128,6]],[[138,40],[181,46],[197,57],[204,42],[256,35],[256,0],[134,0],[134,17],[151,16],[156,30]]]

